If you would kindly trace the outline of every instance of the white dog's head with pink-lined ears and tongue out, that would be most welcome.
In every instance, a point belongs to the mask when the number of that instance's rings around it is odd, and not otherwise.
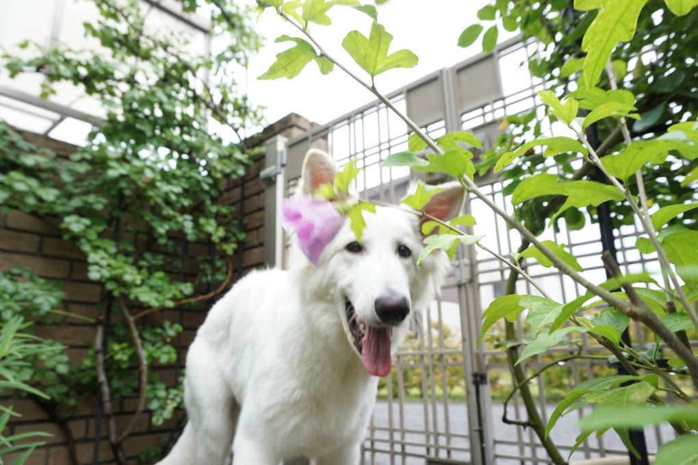
[[[303,193],[332,183],[334,162],[323,152],[311,150],[303,168]],[[424,211],[438,219],[456,216],[463,202],[458,183],[447,184],[433,195]],[[424,309],[440,289],[448,259],[436,251],[417,266],[424,249],[422,218],[406,209],[376,207],[364,212],[366,227],[357,242],[349,221],[322,251],[317,268],[307,265],[306,279],[313,292],[330,300],[350,343],[366,371],[387,376],[391,355],[403,340],[410,316]],[[336,321],[336,316],[333,318]]]

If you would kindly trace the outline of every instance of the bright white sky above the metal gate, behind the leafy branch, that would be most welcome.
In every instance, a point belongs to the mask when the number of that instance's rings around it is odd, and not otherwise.
[[[369,3],[369,2],[366,2]],[[376,77],[376,87],[388,93],[441,68],[482,52],[480,43],[463,49],[456,44],[466,27],[477,22],[477,10],[484,0],[390,0],[377,6],[378,22],[394,36],[389,53],[406,48],[419,57],[414,68],[396,68]],[[357,29],[369,35],[371,18],[353,8],[334,6],[329,10],[332,25],[311,25],[311,33],[336,60],[359,77],[369,80],[341,47],[349,31]],[[257,80],[276,60],[276,54],[287,50],[292,42],[274,43],[281,34],[298,37],[300,32],[283,22],[272,8],[268,8],[257,23],[258,30],[267,38],[265,47],[251,59],[248,75],[250,101],[267,108],[269,123],[291,112],[298,113],[320,124],[332,121],[355,108],[376,100],[375,96],[351,80],[339,68],[327,76],[320,74],[311,62],[292,80]]]

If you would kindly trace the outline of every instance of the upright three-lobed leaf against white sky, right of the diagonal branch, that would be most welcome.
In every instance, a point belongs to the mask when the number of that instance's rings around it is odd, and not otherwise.
[[[385,27],[373,22],[369,38],[359,31],[351,31],[342,40],[342,47],[372,78],[392,68],[412,68],[417,65],[417,55],[409,50],[387,54],[392,39],[393,36],[385,31]]]

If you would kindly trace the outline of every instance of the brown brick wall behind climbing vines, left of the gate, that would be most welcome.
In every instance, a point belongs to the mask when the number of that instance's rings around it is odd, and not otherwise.
[[[265,128],[262,133],[248,140],[248,146],[262,146],[274,135],[287,138],[302,133],[311,128],[311,123],[298,115],[288,115]],[[53,149],[59,154],[70,154],[74,147],[50,140],[43,135],[23,133],[24,138],[42,147]],[[244,215],[244,230],[246,239],[242,248],[232,257],[234,280],[244,276],[250,270],[262,267],[264,252],[264,191],[265,186],[259,178],[260,170],[264,169],[265,154],[261,153],[251,158],[251,165],[243,179],[230,180],[225,185],[221,202],[233,205],[237,212],[242,205]],[[66,298],[61,309],[70,313],[97,318],[104,304],[105,293],[101,285],[90,281],[87,277],[87,263],[82,253],[72,244],[61,239],[61,232],[55,219],[38,218],[12,211],[0,216],[0,270],[6,271],[15,266],[27,266],[33,272],[45,279],[60,281],[61,290]],[[208,244],[188,244],[188,257],[194,258],[209,254]],[[189,267],[185,267],[188,270]],[[186,274],[187,279],[193,279],[193,274]],[[208,288],[199,286],[198,293],[207,293]],[[163,366],[155,364],[151,369],[158,371],[161,381],[174,385],[179,368],[184,366],[186,348],[193,340],[195,332],[206,316],[207,309],[216,300],[199,302],[195,307],[179,307],[151,313],[142,323],[161,325],[163,320],[181,323],[184,331],[179,340],[179,367],[176,364]],[[84,320],[66,316],[55,316],[49,325],[36,325],[36,334],[47,339],[53,339],[68,346],[67,355],[71,362],[81,360],[94,343],[95,327]],[[174,343],[173,343],[174,344]],[[113,401],[116,414],[117,429],[122,431],[135,411],[136,399],[115,399]],[[108,429],[105,420],[97,425],[96,397],[87,399],[75,411],[59,412],[67,418],[66,428],[52,421],[49,413],[43,410],[33,400],[13,395],[0,398],[0,403],[12,406],[22,415],[22,418],[10,423],[10,434],[20,434],[27,431],[47,431],[53,434],[45,440],[46,445],[35,450],[29,457],[27,465],[65,465],[70,464],[68,436],[75,441],[75,456],[79,464],[94,463],[95,444],[97,443],[98,463],[114,463],[112,451],[107,441]],[[177,415],[181,420],[183,413]],[[181,425],[181,423],[180,423]],[[163,438],[168,438],[172,431],[178,429],[177,419],[165,422],[156,427],[152,425],[150,414],[142,415],[133,434],[124,441],[124,451],[129,462],[135,464],[139,452],[153,445],[160,445]],[[96,441],[96,431],[99,429],[99,440]],[[69,431],[69,434],[68,434]],[[6,463],[12,463],[13,455],[3,456]]]

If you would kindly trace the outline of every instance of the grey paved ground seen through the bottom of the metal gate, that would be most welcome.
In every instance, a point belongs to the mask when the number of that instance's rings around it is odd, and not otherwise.
[[[548,415],[552,413],[555,406],[547,406]],[[429,415],[427,421],[429,422],[429,427],[433,431],[434,419],[433,419],[433,407],[429,406],[428,413],[424,413],[424,405],[417,402],[410,402],[405,404],[404,408],[404,425],[406,429],[413,429],[417,431],[424,431],[425,416]],[[588,412],[588,411],[587,411]],[[374,425],[376,427],[388,427],[389,425],[389,408],[387,402],[379,401],[376,404],[376,417],[374,420]],[[530,457],[532,455],[531,447],[528,445],[530,443],[531,432],[530,429],[523,429],[513,426],[505,425],[502,421],[503,406],[501,404],[496,404],[492,407],[491,418],[493,419],[493,435],[496,441],[495,453],[498,456],[497,465],[519,465],[521,461],[519,459],[514,459],[511,456],[519,456],[519,454],[526,455]],[[510,418],[512,417],[512,407],[510,406]],[[557,425],[551,432],[551,438],[558,445],[567,445],[567,449],[563,451],[563,455],[569,453],[569,446],[573,445],[575,439],[579,435],[579,429],[575,426],[577,422],[577,415],[571,413],[566,417],[560,418]],[[400,415],[399,406],[397,404],[393,405],[393,422],[396,427],[400,425]],[[444,408],[443,405],[438,405],[436,408],[436,424],[438,425],[438,431],[441,433],[445,432],[445,421],[444,421]],[[449,405],[449,426],[452,434],[468,434],[468,415],[465,404],[450,404]],[[660,431],[660,442],[666,442],[674,438],[674,431],[667,425],[666,428]],[[375,431],[375,438],[389,438],[388,431]],[[401,437],[400,431],[394,431],[394,438],[399,439]],[[412,441],[415,443],[424,443],[425,437],[424,433],[407,433],[405,436],[406,441]],[[446,445],[445,435],[439,437],[438,443],[440,445]],[[658,437],[654,429],[646,430],[646,441],[647,448],[650,453],[657,450]],[[505,442],[512,442],[512,444],[507,444]],[[434,443],[433,436],[431,437],[431,443]],[[470,449],[470,444],[468,438],[452,438],[451,445],[455,448]],[[523,451],[519,444],[523,443]],[[370,442],[365,443],[366,447],[371,447]],[[377,450],[389,450],[389,444],[385,441],[376,441],[375,446]],[[588,440],[588,452],[591,457],[598,457],[597,452],[594,450],[625,450],[621,439],[614,433],[614,431],[609,431],[605,434],[602,439],[597,440],[594,435]],[[424,465],[424,458],[422,457],[410,457],[409,454],[424,456],[425,448],[417,445],[407,445],[405,448],[406,455],[403,459],[402,450],[397,445],[394,449],[394,454],[391,457],[389,452],[378,452],[376,454],[371,454],[370,451],[366,451],[364,454],[364,464],[366,465]],[[447,457],[446,449],[442,448],[438,454],[439,457]],[[545,452],[542,448],[537,448],[536,450],[538,457],[545,457]],[[435,455],[435,451],[432,449],[431,453]],[[510,456],[510,457],[507,457]],[[454,451],[451,454],[452,459],[461,459],[467,461],[470,459],[469,452],[466,451]],[[581,446],[577,452],[574,453],[572,459],[584,459],[584,446]],[[532,464],[530,460],[527,461],[528,464]]]

